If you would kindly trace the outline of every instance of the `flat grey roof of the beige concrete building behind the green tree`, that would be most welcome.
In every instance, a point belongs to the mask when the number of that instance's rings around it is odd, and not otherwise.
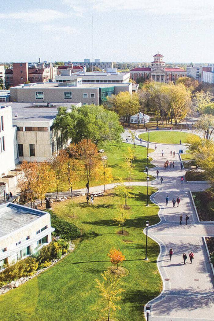
[[[50,101],[51,103],[51,101]],[[0,103],[0,106],[11,106],[13,115],[13,124],[19,121],[50,121],[53,120],[57,113],[58,107],[66,107],[70,109],[79,103],[53,103],[53,107],[47,107],[47,103],[21,103],[21,102],[7,102]],[[44,107],[43,107],[44,106]],[[15,117],[18,115],[18,117]]]

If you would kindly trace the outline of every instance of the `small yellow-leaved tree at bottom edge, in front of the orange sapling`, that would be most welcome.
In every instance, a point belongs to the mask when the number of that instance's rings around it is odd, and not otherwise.
[[[121,293],[125,290],[120,287],[120,276],[113,274],[110,271],[104,271],[101,274],[103,282],[96,279],[97,288],[102,297],[102,302],[105,308],[102,311],[108,312],[108,321],[110,321],[111,311],[121,310],[121,307],[117,305],[117,302],[122,299]]]

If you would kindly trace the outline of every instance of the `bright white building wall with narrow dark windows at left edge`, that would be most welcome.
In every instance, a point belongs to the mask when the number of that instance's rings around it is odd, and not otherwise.
[[[4,122],[4,130],[2,129],[1,124],[2,116]],[[15,168],[13,149],[14,128],[12,124],[12,110],[10,106],[0,108],[0,128],[0,176],[3,176],[7,175],[8,170]],[[3,137],[5,150],[3,150]]]

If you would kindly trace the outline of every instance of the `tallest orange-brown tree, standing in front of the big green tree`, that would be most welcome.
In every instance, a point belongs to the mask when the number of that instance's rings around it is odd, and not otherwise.
[[[90,139],[83,139],[78,144],[79,157],[87,179],[87,195],[89,194],[90,180],[95,178],[100,165],[100,155],[97,146]]]

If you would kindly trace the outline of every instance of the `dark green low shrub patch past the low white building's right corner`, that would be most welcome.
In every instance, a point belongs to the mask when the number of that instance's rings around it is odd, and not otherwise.
[[[81,236],[80,229],[76,225],[69,223],[49,211],[51,215],[51,226],[55,228],[52,233],[54,236],[60,236],[62,239],[71,241]]]

